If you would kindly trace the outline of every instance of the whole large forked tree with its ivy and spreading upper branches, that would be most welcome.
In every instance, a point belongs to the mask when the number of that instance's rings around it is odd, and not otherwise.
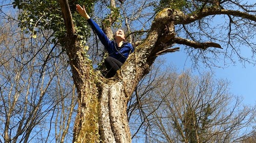
[[[68,3],[68,1],[59,0],[58,2],[14,1],[13,5],[22,9],[19,16],[20,26],[23,30],[29,31],[33,38],[36,38],[37,32],[49,30],[54,35],[51,42],[65,46],[63,50],[69,56],[69,64],[78,93],[78,114],[73,142],[98,142],[99,140],[131,142],[126,104],[138,82],[150,70],[156,57],[177,50],[170,48],[173,44],[194,47],[187,48],[189,55],[194,58],[193,61],[201,60],[209,66],[215,65],[215,60],[221,59],[221,56],[232,60],[229,53],[233,51],[240,56],[239,48],[234,42],[250,47],[252,53],[255,50],[254,44],[250,42],[254,34],[252,23],[256,21],[252,10],[254,5],[243,4],[241,1],[218,1],[217,3],[216,1],[183,1],[186,3],[175,9],[162,9],[163,6],[159,5],[158,1],[144,3],[131,1],[124,2],[122,6],[115,1],[110,3],[69,1]],[[114,15],[119,16],[118,13],[121,13],[120,17],[124,19],[126,25],[130,25],[127,28],[134,34],[142,34],[140,36],[142,42],[136,46],[135,52],[131,54],[115,78],[105,79],[94,71],[88,48],[84,46],[89,36],[87,31],[89,28],[84,24],[79,25],[79,22],[84,23],[84,21],[79,19],[80,17],[77,17],[72,9],[74,3],[87,5],[91,10],[94,10],[94,6],[99,6],[98,4],[108,5],[110,9],[107,13],[111,19],[116,17]],[[140,5],[136,6],[136,4]],[[123,12],[114,9],[115,6],[123,8]],[[132,6],[134,9],[131,9]],[[161,8],[158,13],[153,11],[156,7]],[[238,10],[232,10],[233,8]],[[142,15],[146,17],[133,19]],[[216,15],[227,15],[227,23],[217,27],[220,28],[220,34],[214,31],[216,24],[212,22],[215,20],[212,17]],[[113,19],[110,23],[103,23],[102,27],[111,27],[118,20],[118,18]],[[142,24],[135,28],[138,23]],[[198,28],[193,28],[195,26]],[[224,31],[226,28],[228,32]],[[226,38],[222,32],[226,33]],[[136,37],[135,40],[139,38]],[[223,47],[227,50],[219,49]],[[231,50],[228,50],[229,48]],[[242,60],[254,63],[253,59],[240,57]]]

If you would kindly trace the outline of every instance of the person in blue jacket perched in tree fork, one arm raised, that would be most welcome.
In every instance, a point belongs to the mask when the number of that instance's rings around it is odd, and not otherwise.
[[[132,44],[125,42],[125,36],[122,30],[117,30],[114,40],[110,40],[101,30],[99,25],[87,14],[84,6],[81,7],[80,5],[76,5],[76,10],[82,17],[86,18],[99,37],[99,40],[108,51],[109,56],[104,59],[106,69],[108,70],[105,77],[113,77],[116,74],[116,71],[119,70],[126,61],[129,54],[134,51]]]

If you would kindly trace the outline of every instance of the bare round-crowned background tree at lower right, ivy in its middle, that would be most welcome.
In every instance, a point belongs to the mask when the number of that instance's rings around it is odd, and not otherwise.
[[[146,95],[152,101],[142,105],[150,121],[146,141],[242,142],[254,133],[255,106],[242,105],[227,81],[189,72],[165,79]]]

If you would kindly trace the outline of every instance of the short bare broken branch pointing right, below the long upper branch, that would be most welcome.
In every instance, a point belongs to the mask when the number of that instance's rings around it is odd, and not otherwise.
[[[216,48],[221,48],[221,45],[218,43],[214,43],[214,42],[204,42],[204,43],[199,43],[199,42],[195,42],[195,41],[191,41],[188,39],[183,39],[180,37],[175,37],[174,38],[174,42],[177,44],[183,44],[183,45],[187,45],[190,47],[194,47],[194,48],[200,48],[200,49],[206,49],[208,47],[216,47]]]

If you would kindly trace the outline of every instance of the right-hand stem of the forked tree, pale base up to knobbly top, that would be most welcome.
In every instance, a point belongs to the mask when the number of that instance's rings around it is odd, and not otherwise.
[[[114,78],[102,81],[99,97],[99,128],[102,142],[131,142],[131,133],[127,121],[126,105],[140,79],[149,71],[157,51],[163,50],[161,42],[174,38],[173,22],[159,22],[170,15],[166,10],[155,19],[155,24],[146,40],[132,53]],[[168,20],[168,19],[167,19]],[[163,28],[162,27],[167,27]],[[163,32],[166,35],[159,36]],[[153,56],[153,58],[151,57]],[[103,83],[104,82],[104,83]]]

